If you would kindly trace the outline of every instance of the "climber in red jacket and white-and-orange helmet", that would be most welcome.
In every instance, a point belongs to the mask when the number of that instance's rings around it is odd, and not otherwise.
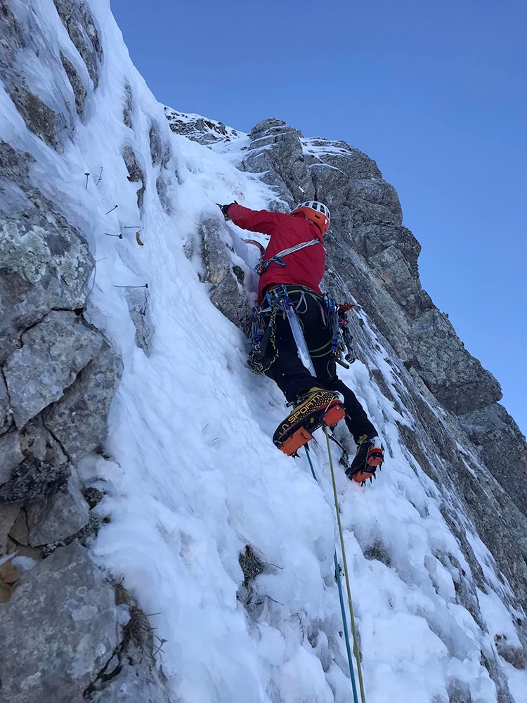
[[[362,482],[374,475],[382,463],[383,448],[355,394],[337,377],[332,356],[332,330],[320,292],[325,269],[322,240],[330,226],[329,209],[315,201],[301,203],[291,214],[255,211],[236,202],[219,207],[226,218],[242,229],[271,235],[261,267],[258,299],[260,302],[267,291],[285,285],[304,329],[316,378],[299,359],[289,323],[283,316],[275,319],[275,353],[266,375],[277,383],[297,414],[301,406],[329,405],[338,397],[337,392],[343,396],[345,422],[357,445],[346,474]],[[287,251],[297,246],[296,250]]]

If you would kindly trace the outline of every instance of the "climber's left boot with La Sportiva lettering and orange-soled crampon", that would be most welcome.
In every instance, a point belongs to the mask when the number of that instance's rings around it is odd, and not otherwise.
[[[315,430],[323,425],[332,427],[345,415],[337,392],[313,386],[299,397],[294,411],[278,425],[273,442],[278,449],[291,456],[313,439]]]

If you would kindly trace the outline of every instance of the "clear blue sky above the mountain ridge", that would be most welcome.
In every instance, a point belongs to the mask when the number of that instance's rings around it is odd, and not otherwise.
[[[162,103],[249,131],[278,117],[375,159],[422,285],[527,433],[523,0],[112,0]]]

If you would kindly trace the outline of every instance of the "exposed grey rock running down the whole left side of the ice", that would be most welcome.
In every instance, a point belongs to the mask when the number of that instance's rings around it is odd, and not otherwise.
[[[53,36],[31,8],[0,7],[1,83],[23,120],[18,136],[0,138],[0,699],[167,701],[148,621],[84,548],[102,494],[77,467],[103,453],[123,363],[86,315],[89,228],[44,194],[37,159],[20,148],[36,139],[35,150],[62,155],[100,84],[96,18],[77,0],[55,0],[55,11],[63,32]],[[162,198],[169,156],[154,125],[150,147]],[[130,146],[122,155],[141,207],[144,173]],[[147,349],[145,310],[133,295],[129,305]]]

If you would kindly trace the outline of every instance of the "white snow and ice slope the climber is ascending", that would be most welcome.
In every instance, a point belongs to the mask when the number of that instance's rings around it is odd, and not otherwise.
[[[334,582],[336,520],[325,445],[319,437],[313,451],[319,484],[305,458],[287,458],[273,447],[286,412],[282,395],[271,380],[251,373],[245,337],[200,282],[200,221],[221,217],[216,202],[257,209],[273,193],[233,165],[245,135],[214,152],[171,133],[162,105],[131,65],[108,3],[88,5],[104,60],[89,115],[77,122],[65,153],[29,135],[4,92],[0,138],[35,157],[34,182],[89,240],[97,265],[87,318],[124,359],[109,458],[93,456],[80,467],[86,482],[105,491],[98,512],[110,517],[93,555],[124,576],[143,610],[154,614],[150,621],[163,641],[158,659],[174,702],[344,703],[351,683]],[[34,3],[34,13],[50,41],[64,44],[51,0]],[[43,89],[52,90],[51,67],[39,71]],[[122,120],[126,84],[133,129]],[[152,124],[171,153],[173,214],[151,185],[162,169],[150,157]],[[141,212],[138,183],[128,180],[122,160],[126,145],[147,181]],[[124,238],[108,236],[119,232]],[[242,233],[230,232],[250,264]],[[145,293],[150,356],[135,343],[129,289],[119,288],[145,284],[135,290]],[[502,602],[508,586],[471,534],[493,584],[479,603],[488,631],[459,604],[457,587],[462,575],[471,579],[471,569],[441,515],[436,484],[401,446],[397,423],[412,427],[414,418],[386,362],[390,351],[376,341],[367,314],[360,315],[370,351],[339,375],[382,434],[386,468],[371,487],[352,485],[337,469],[337,484],[367,701],[495,703],[495,683],[482,662],[496,656],[495,634],[515,636],[514,614]],[[398,409],[369,368],[382,371]],[[266,565],[256,578],[252,614],[237,599],[244,579],[239,555],[247,544]],[[527,673],[504,662],[502,671],[514,701],[525,703]],[[453,698],[455,692],[461,697]]]

